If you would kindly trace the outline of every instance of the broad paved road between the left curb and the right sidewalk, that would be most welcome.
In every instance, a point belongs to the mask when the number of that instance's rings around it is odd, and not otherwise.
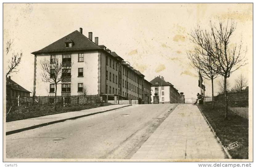
[[[132,105],[6,136],[6,158],[131,158],[175,104]]]

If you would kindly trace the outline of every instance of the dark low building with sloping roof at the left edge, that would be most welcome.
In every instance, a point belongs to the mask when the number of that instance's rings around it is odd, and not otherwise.
[[[18,83],[11,80],[11,77],[9,76],[6,78],[6,97],[8,98],[14,98],[14,97],[29,97],[30,91],[24,89],[22,86],[20,86]]]

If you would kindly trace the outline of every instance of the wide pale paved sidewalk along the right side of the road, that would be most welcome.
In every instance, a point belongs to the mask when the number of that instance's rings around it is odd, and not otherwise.
[[[131,159],[225,158],[197,106],[180,104]]]

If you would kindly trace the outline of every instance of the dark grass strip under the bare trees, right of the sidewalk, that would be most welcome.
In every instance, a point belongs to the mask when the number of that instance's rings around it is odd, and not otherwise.
[[[223,102],[215,102],[215,109],[211,109],[211,102],[199,106],[224,147],[238,141],[239,146],[228,151],[232,158],[248,159],[248,120],[231,111],[228,113],[228,120],[224,120]]]

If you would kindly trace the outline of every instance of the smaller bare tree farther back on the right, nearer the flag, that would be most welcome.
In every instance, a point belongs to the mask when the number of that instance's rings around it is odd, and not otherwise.
[[[213,95],[213,79],[217,78],[219,74],[216,71],[216,65],[213,63],[214,59],[211,55],[208,54],[207,50],[204,49],[204,46],[198,45],[197,40],[200,38],[205,38],[203,36],[202,30],[196,29],[191,33],[191,41],[196,44],[194,51],[187,52],[188,58],[190,60],[190,65],[201,71],[202,76],[211,80],[212,82],[212,109],[214,109],[214,95]],[[209,45],[209,44],[208,44]]]

